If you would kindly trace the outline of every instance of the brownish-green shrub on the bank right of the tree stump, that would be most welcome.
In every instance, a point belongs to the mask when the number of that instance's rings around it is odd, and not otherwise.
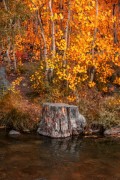
[[[88,122],[103,124],[105,128],[120,125],[120,95],[102,96],[95,89],[82,89],[79,92],[79,110]]]

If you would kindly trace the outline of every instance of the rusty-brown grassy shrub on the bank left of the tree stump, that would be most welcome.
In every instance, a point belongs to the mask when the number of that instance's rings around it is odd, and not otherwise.
[[[9,93],[0,99],[0,124],[6,128],[33,130],[40,116],[40,108],[20,95]]]

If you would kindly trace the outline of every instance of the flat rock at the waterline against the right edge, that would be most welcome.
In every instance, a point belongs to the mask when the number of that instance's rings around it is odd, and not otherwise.
[[[104,131],[106,136],[117,136],[120,135],[120,127],[112,127],[111,129],[106,129]]]

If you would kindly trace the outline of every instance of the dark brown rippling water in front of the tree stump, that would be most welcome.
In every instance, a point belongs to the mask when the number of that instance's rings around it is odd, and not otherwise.
[[[120,180],[120,140],[1,133],[0,180]]]

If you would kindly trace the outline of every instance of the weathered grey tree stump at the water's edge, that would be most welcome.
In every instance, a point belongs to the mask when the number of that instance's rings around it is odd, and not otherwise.
[[[38,133],[53,138],[64,138],[83,133],[85,118],[78,107],[63,103],[44,103]]]

